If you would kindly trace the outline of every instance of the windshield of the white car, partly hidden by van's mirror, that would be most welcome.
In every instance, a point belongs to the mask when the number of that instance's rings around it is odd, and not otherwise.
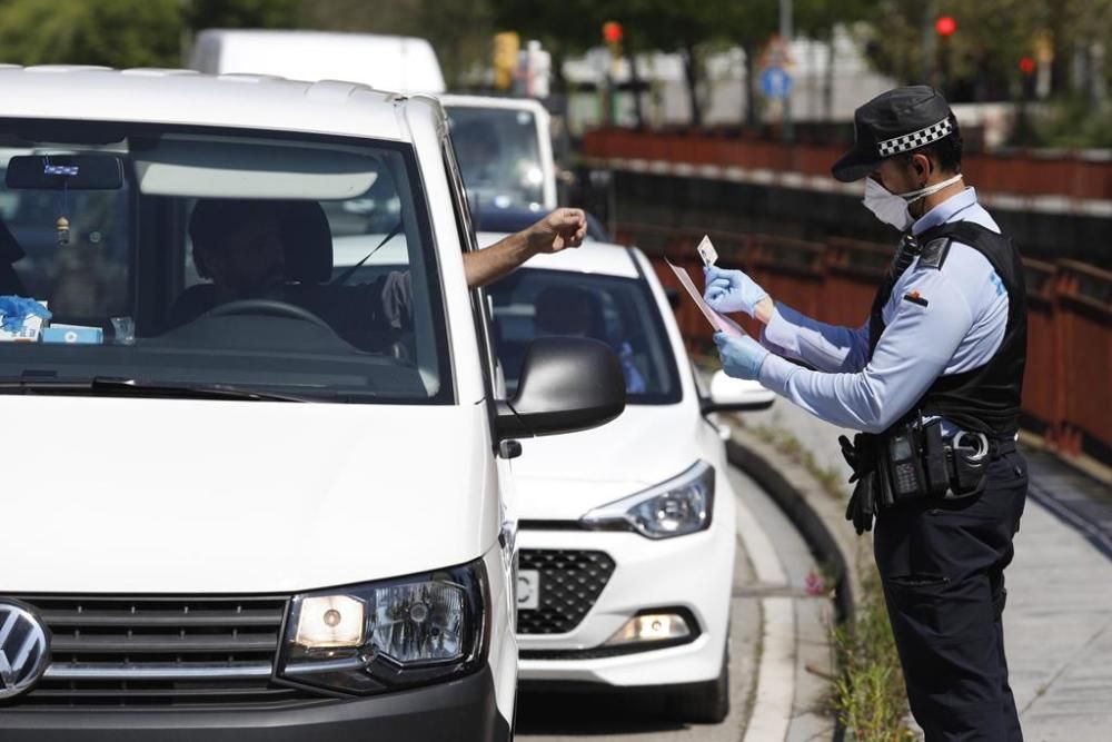
[[[534,338],[575,336],[602,340],[614,349],[629,404],[681,399],[672,346],[644,280],[526,267],[488,290],[498,359],[510,394],[517,389]]]

